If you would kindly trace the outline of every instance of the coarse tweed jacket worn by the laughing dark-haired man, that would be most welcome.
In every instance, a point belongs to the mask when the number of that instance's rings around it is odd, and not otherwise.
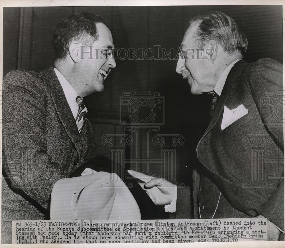
[[[3,79],[2,220],[45,219],[53,184],[95,156],[91,123],[79,134],[52,67]]]

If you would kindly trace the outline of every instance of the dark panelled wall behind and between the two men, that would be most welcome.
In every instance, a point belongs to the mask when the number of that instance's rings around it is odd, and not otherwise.
[[[233,17],[245,32],[249,43],[247,62],[265,57],[283,62],[281,5],[4,7],[3,76],[13,69],[37,71],[52,66],[52,34],[58,22],[73,13],[89,11],[102,15],[111,24],[116,48],[147,49],[160,45],[166,50],[174,48],[177,53],[189,19],[214,10]],[[198,164],[195,146],[207,126],[211,99],[208,95],[190,94],[186,80],[175,72],[177,60],[116,62],[117,68],[107,77],[104,92],[86,97],[98,153],[109,155],[109,148],[100,142],[104,134],[124,133],[124,126],[119,125],[119,97],[123,92],[133,93],[137,89],[148,89],[152,95],[158,92],[165,97],[166,104],[166,121],[159,132],[184,136],[184,145],[176,149],[176,177],[177,181],[189,183],[192,165]],[[144,157],[145,135],[141,130],[139,135],[138,153]],[[127,156],[133,156],[133,148],[126,150]],[[160,148],[152,147],[148,155],[160,156]],[[144,163],[136,165],[143,172],[148,168]],[[126,167],[134,169],[135,165]],[[159,174],[161,166],[153,165],[149,171]]]

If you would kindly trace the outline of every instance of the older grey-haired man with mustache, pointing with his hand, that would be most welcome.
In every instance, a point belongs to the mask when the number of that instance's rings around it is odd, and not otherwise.
[[[196,149],[194,210],[187,187],[151,178],[144,187],[176,218],[265,217],[268,240],[284,240],[283,66],[243,61],[247,40],[221,12],[194,17],[180,49],[176,71],[191,93],[213,94],[212,118]]]

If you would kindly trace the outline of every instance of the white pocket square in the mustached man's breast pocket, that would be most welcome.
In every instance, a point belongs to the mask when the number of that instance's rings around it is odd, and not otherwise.
[[[248,113],[248,109],[243,106],[243,104],[239,105],[237,108],[230,110],[227,106],[224,106],[224,114],[223,120],[221,124],[221,130],[224,130],[226,127],[231,125],[236,120],[245,116]]]

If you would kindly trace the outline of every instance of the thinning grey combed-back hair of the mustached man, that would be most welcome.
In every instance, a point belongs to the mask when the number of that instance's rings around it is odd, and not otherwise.
[[[231,17],[220,11],[213,11],[197,15],[190,20],[189,24],[197,21],[201,21],[197,30],[197,42],[200,46],[205,46],[210,40],[215,40],[229,54],[239,51],[245,55],[247,38]]]

